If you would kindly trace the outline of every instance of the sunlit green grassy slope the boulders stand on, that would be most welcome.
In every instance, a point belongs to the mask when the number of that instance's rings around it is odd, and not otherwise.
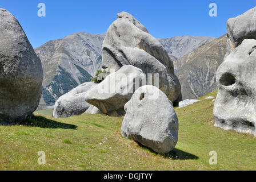
[[[216,91],[207,96],[215,96]],[[159,155],[121,135],[122,118],[83,114],[54,119],[36,113],[20,126],[0,126],[2,170],[255,170],[256,138],[214,127],[213,102],[175,108],[174,151]],[[46,154],[39,165],[38,151]],[[217,152],[217,165],[209,152]]]

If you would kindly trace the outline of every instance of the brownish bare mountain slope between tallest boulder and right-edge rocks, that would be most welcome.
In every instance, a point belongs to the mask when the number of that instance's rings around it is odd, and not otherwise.
[[[217,89],[215,74],[225,56],[226,43],[227,36],[223,35],[174,61],[183,100],[198,98]]]

